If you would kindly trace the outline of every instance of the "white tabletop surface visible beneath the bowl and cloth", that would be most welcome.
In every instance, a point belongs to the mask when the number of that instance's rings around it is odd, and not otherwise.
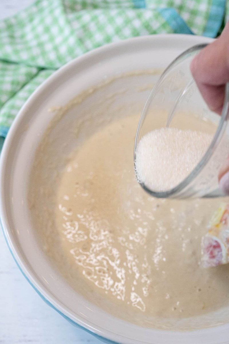
[[[55,0],[51,0],[55,1]],[[33,0],[0,0],[0,19]],[[16,266],[0,229],[0,343],[100,344],[68,323],[38,296]]]

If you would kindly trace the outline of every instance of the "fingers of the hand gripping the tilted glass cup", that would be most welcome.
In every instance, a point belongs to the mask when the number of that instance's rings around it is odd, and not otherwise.
[[[209,109],[220,115],[229,82],[229,22],[220,37],[194,57],[191,72]],[[229,195],[229,158],[218,179],[219,187]]]

